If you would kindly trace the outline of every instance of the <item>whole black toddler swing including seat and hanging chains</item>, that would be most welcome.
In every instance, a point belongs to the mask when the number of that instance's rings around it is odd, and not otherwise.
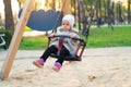
[[[61,17],[61,14],[62,14],[62,11],[61,11],[59,17]],[[86,39],[87,39],[88,33],[90,33],[90,26],[91,26],[91,24],[92,24],[92,21],[93,21],[92,18],[93,18],[93,16],[94,16],[94,10],[93,10],[93,13],[91,14],[91,23],[90,23],[90,25],[88,25],[85,29],[83,29],[83,33],[85,33],[85,34],[83,34],[83,36],[85,36]],[[57,23],[59,23],[59,17],[58,17],[58,20],[57,20],[57,22],[56,22],[56,25],[55,25],[55,27],[53,27],[53,29],[52,29],[51,33],[56,33],[56,32],[57,32]],[[69,39],[75,40],[75,42],[78,42],[78,45],[76,45],[76,47],[75,47],[75,52],[74,52],[74,53],[70,53],[70,55],[66,57],[64,60],[66,60],[66,61],[82,61],[82,54],[83,54],[83,51],[84,51],[84,49],[85,49],[85,47],[86,47],[86,41],[84,41],[84,40],[81,39],[81,38],[71,38],[70,36],[66,36],[66,35],[55,35],[55,37],[48,37],[47,48],[48,48],[48,47],[50,46],[50,44],[51,44],[51,38],[57,38],[57,37],[60,38],[60,40],[59,40],[59,47],[58,47],[58,52],[57,52],[56,54],[55,54],[55,53],[51,53],[50,57],[58,59],[59,51],[61,50],[61,48],[62,48],[62,46],[63,46],[63,40],[64,40],[66,38],[69,38]]]

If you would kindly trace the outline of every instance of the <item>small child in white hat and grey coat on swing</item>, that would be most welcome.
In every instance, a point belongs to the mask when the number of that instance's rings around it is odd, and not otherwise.
[[[74,24],[74,16],[71,14],[67,14],[62,18],[62,29],[57,34],[51,34],[50,37],[53,37],[55,35],[68,35],[71,38],[74,38],[74,37],[79,38],[79,35],[72,30],[73,24]],[[64,61],[64,58],[67,55],[70,55],[70,53],[75,52],[75,47],[73,46],[73,42],[72,42],[73,40],[71,38],[64,38],[63,47],[61,48],[58,55],[58,60],[55,62],[55,65],[52,67],[57,72],[60,71],[62,63]],[[60,37],[55,38],[51,46],[49,46],[49,48],[45,50],[43,55],[38,60],[34,61],[33,64],[36,65],[37,67],[43,67],[48,57],[51,53],[58,52],[59,39]]]

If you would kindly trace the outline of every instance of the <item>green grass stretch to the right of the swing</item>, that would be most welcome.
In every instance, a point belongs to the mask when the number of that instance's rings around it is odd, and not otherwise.
[[[87,47],[123,47],[131,46],[131,26],[94,28],[90,33]]]

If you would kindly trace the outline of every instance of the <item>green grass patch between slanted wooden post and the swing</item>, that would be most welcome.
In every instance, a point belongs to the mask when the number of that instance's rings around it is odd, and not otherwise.
[[[41,50],[47,46],[48,39],[44,36],[37,37],[23,37],[20,44],[21,50]]]

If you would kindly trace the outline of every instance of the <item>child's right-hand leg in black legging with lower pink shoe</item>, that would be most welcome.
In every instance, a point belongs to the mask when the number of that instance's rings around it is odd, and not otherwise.
[[[69,55],[69,51],[67,50],[67,48],[62,48],[61,51],[60,51],[60,55],[58,57],[58,60],[56,61],[55,63],[55,66],[53,66],[53,70],[59,72],[60,71],[60,67],[62,66],[62,63],[66,59],[67,55]]]

